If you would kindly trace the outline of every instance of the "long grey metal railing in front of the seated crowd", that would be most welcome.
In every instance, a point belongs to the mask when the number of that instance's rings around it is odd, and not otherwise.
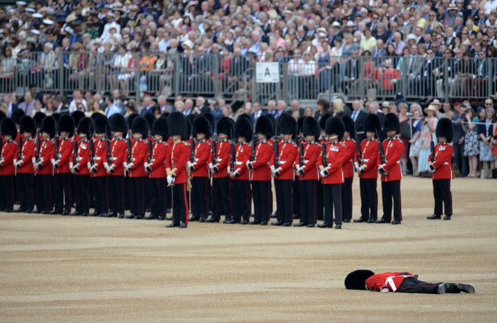
[[[131,63],[130,63],[131,61]],[[409,61],[409,62],[408,62]],[[206,54],[124,55],[96,52],[30,52],[0,60],[0,92],[23,94],[35,84],[41,92],[70,96],[75,89],[110,94],[119,88],[139,100],[144,94],[173,98],[224,96],[228,101],[316,100],[329,94],[344,98],[458,100],[496,94],[497,59],[474,57],[431,61],[410,56],[341,57],[318,62],[280,61],[280,82],[257,83],[255,59]],[[13,67],[12,70],[10,68]]]

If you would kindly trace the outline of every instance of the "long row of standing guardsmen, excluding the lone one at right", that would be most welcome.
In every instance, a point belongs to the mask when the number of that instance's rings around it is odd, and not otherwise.
[[[382,126],[375,114],[364,121],[367,138],[360,143],[349,116],[329,114],[319,122],[312,117],[295,121],[289,115],[276,122],[270,115],[261,116],[255,134],[249,116],[240,116],[236,123],[222,117],[215,125],[216,140],[211,138],[211,114],[133,114],[128,121],[120,114],[110,120],[102,114],[92,117],[80,112],[3,116],[1,210],[164,220],[173,209],[167,227],[184,228],[188,220],[220,222],[223,215],[228,224],[267,225],[274,180],[277,221],[271,225],[314,227],[322,219],[318,227],[334,223],[340,229],[352,219],[356,171],[361,209],[353,221],[401,223],[403,144],[396,136],[400,125],[395,114],[384,118],[388,138],[382,143],[376,139]],[[20,206],[13,210],[16,195]],[[125,209],[130,210],[127,216]],[[293,224],[295,218],[300,222]]]

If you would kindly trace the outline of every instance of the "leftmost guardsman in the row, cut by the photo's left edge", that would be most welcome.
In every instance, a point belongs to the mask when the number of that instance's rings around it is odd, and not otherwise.
[[[14,206],[14,158],[17,156],[17,126],[10,118],[1,121],[2,138],[0,154],[0,211],[12,212]]]

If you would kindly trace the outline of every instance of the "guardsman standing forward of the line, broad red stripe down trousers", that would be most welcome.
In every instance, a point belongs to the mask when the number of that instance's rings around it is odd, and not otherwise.
[[[190,159],[188,121],[181,112],[168,116],[169,136],[173,140],[166,156],[167,183],[173,187],[173,222],[166,227],[186,228],[188,226],[188,199],[186,198],[186,163]]]

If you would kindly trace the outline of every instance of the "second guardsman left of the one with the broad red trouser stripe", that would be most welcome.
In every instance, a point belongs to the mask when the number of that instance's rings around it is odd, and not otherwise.
[[[131,159],[124,163],[124,169],[128,172],[130,178],[130,212],[126,216],[128,219],[142,219],[145,215],[145,179],[147,172],[145,163],[148,156],[148,138],[149,124],[146,118],[137,116],[131,124],[131,132],[135,141],[131,146]]]

